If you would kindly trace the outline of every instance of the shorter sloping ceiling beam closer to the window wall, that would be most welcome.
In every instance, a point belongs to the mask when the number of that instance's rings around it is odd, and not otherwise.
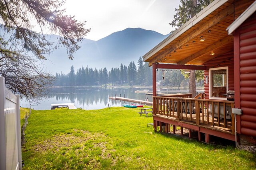
[[[206,47],[205,49],[199,51],[198,53],[195,53],[193,55],[190,55],[189,57],[187,57],[186,59],[178,62],[177,64],[186,64],[202,55],[205,55],[206,53],[209,53],[211,51],[213,51],[214,49],[217,49],[219,47],[221,47],[222,45],[225,45],[227,43],[229,43],[230,41],[233,41],[233,37],[232,36],[227,36],[224,39],[221,39],[220,41],[217,41],[216,43],[213,43],[212,45]],[[215,57],[215,56],[214,56]],[[214,58],[213,57],[213,58]]]

